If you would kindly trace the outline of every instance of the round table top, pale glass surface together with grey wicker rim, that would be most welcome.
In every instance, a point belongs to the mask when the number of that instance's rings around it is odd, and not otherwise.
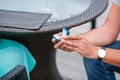
[[[75,27],[98,17],[107,5],[108,0],[1,0],[0,9],[51,13],[52,17],[39,30],[0,27],[0,32],[43,33],[61,30],[63,26]]]

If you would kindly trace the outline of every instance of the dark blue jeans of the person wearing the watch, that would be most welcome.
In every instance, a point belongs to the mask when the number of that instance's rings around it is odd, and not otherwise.
[[[120,41],[116,41],[106,47],[120,49]],[[114,71],[120,72],[120,67],[88,58],[84,58],[84,66],[86,68],[88,80],[116,80]]]

